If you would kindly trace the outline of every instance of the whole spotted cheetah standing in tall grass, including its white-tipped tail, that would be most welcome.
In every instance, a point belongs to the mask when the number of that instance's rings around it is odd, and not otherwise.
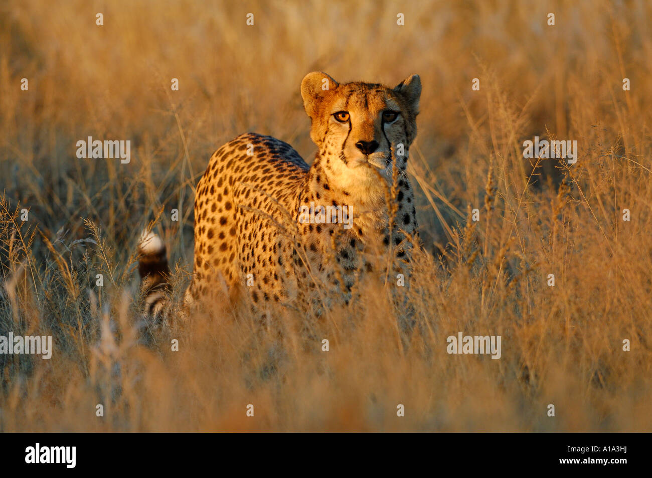
[[[318,147],[311,166],[288,143],[254,133],[211,156],[196,188],[186,306],[215,304],[236,290],[248,290],[254,306],[295,303],[316,284],[341,291],[348,303],[355,277],[373,271],[366,254],[393,248],[396,260],[409,264],[417,218],[406,166],[417,134],[419,76],[389,88],[312,72],[301,96]],[[168,291],[165,247],[149,233],[140,254],[147,308],[155,314]]]

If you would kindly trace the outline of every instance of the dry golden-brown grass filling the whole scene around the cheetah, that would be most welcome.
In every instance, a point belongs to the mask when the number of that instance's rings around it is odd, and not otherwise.
[[[652,430],[652,5],[313,4],[0,5],[0,335],[55,342],[50,361],[0,355],[0,431]],[[179,297],[209,155],[256,131],[311,158],[311,70],[421,75],[411,333],[366,283],[319,320],[276,310],[261,328],[221,305],[171,332],[178,352],[138,344],[140,230],[157,220]],[[570,170],[531,172],[522,142],[546,131],[578,141]],[[132,162],[78,160],[87,136],[131,140]],[[458,331],[501,335],[501,359],[448,355]]]

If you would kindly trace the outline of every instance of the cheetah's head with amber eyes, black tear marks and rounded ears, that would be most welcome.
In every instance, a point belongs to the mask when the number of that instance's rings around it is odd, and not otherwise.
[[[405,170],[409,145],[417,134],[419,75],[388,88],[362,82],[340,84],[325,73],[312,72],[301,82],[301,96],[312,123],[310,138],[334,173],[351,180],[357,176],[359,181],[370,174],[371,164],[391,177],[393,157],[399,169]]]

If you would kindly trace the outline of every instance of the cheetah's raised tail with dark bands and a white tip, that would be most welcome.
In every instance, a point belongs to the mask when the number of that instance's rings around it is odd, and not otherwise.
[[[152,232],[143,231],[138,241],[138,273],[145,297],[145,314],[159,316],[168,305],[170,267],[166,246]]]

